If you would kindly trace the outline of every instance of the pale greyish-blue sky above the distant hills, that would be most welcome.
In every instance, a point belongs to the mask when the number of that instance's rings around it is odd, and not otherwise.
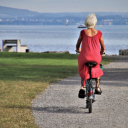
[[[0,0],[0,6],[40,13],[128,12],[128,0]]]

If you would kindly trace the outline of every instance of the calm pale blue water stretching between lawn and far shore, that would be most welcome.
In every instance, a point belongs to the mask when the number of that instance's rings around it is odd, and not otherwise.
[[[31,52],[69,51],[76,54],[76,43],[82,29],[77,25],[0,25],[0,45],[2,48],[4,39],[20,39],[21,45],[27,45]],[[95,29],[103,33],[106,54],[119,55],[120,49],[128,49],[127,25],[97,25]]]

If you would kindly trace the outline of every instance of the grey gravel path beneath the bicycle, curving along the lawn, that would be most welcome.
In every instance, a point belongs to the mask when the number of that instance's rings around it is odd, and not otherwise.
[[[104,66],[93,112],[78,98],[80,77],[64,79],[32,102],[35,122],[40,128],[128,128],[128,57]]]

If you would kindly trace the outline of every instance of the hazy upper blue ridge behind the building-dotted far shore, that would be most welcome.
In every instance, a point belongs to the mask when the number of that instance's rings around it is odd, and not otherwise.
[[[38,13],[34,11],[29,11],[26,9],[17,9],[0,6],[0,17],[11,18],[11,17],[86,17],[90,12],[80,12],[80,13]],[[94,12],[97,16],[109,16],[109,15],[128,15],[128,12]]]

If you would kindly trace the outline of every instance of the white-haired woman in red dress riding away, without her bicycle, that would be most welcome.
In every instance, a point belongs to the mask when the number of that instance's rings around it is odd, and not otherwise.
[[[85,19],[84,29],[80,32],[76,44],[76,51],[80,52],[78,57],[78,71],[81,77],[81,89],[84,89],[86,80],[89,79],[89,68],[85,66],[86,62],[93,61],[97,65],[92,68],[92,78],[96,78],[96,93],[101,94],[99,87],[99,77],[103,75],[100,69],[101,55],[105,51],[102,32],[95,29],[97,18],[94,13],[89,14]],[[81,51],[79,51],[81,45]]]

